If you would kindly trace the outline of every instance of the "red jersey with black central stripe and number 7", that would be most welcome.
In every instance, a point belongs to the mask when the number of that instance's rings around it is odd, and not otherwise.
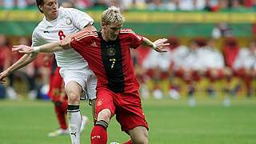
[[[132,30],[121,30],[115,41],[106,42],[101,32],[83,33],[70,43],[89,63],[98,78],[97,88],[106,87],[114,93],[138,90],[130,48],[142,44],[143,37]]]

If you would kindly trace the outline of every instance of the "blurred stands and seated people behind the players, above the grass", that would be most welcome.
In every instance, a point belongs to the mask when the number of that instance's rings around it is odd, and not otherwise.
[[[168,53],[132,50],[142,98],[252,98],[256,76],[255,0],[59,0],[85,11],[100,30],[102,10],[118,6],[126,23],[152,40],[168,38]],[[21,58],[13,45],[31,44],[42,19],[34,0],[0,0],[0,70]],[[44,54],[0,86],[0,98],[48,99],[49,62]]]

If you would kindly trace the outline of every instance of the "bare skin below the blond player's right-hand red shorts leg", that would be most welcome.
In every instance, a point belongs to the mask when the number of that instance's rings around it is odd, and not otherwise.
[[[148,131],[144,126],[136,126],[132,130],[128,130],[128,134],[134,143],[148,143]]]

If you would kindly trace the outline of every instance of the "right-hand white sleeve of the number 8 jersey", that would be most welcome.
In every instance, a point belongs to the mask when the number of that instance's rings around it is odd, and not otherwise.
[[[69,12],[72,17],[73,25],[78,27],[79,30],[82,30],[88,24],[92,25],[94,23],[94,19],[90,18],[88,14],[82,12],[81,10],[71,8]]]

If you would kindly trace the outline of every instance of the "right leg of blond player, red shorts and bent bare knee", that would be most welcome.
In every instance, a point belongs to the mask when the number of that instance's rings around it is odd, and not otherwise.
[[[118,101],[116,118],[121,125],[122,131],[130,135],[128,143],[148,143],[148,124],[142,110],[142,103],[138,92],[116,96]]]

